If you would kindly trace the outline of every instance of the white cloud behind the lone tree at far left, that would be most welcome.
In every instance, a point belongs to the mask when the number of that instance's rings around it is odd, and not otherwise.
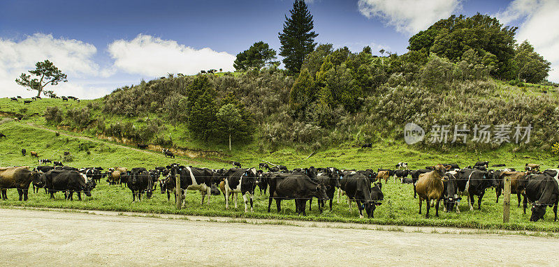
[[[73,80],[109,75],[94,62],[96,52],[94,45],[80,40],[54,38],[50,34],[35,33],[19,41],[0,38],[0,97],[36,95],[17,85],[15,78],[34,69],[36,62],[45,59],[55,63],[55,66],[68,75],[70,81],[52,87],[55,91],[64,95],[77,95],[81,92],[80,95],[89,96],[91,94],[82,92],[82,86]]]

